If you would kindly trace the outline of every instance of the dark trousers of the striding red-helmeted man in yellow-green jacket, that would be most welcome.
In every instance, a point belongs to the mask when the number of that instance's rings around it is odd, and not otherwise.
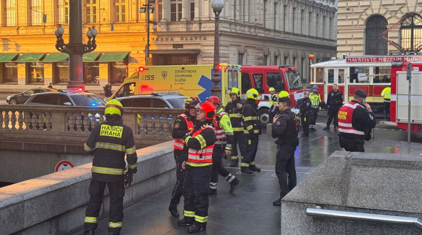
[[[224,148],[221,146],[214,146],[212,149],[212,172],[211,172],[211,181],[210,181],[210,189],[216,190],[217,183],[218,183],[218,175],[220,174],[224,178],[226,178],[227,182],[231,183],[236,176],[230,174],[229,171],[223,166],[221,163],[222,157],[225,154]]]

